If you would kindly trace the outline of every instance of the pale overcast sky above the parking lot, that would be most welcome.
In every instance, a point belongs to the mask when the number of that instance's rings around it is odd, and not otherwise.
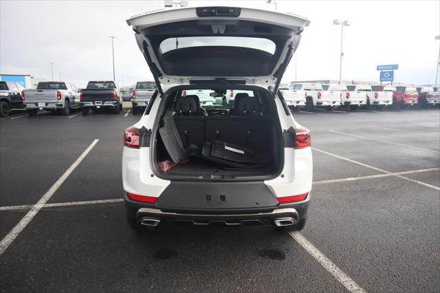
[[[190,1],[190,6],[251,6],[274,10],[266,1]],[[399,64],[395,81],[434,83],[440,41],[440,1],[277,1],[278,11],[307,17],[311,24],[284,76],[294,80],[338,79],[340,26],[344,27],[342,79],[378,80],[376,65]],[[0,73],[54,76],[84,87],[112,79],[115,39],[117,83],[151,79],[129,17],[162,8],[164,1],[0,0]]]

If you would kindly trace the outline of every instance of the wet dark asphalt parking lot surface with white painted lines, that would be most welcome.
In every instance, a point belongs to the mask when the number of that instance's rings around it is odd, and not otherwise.
[[[439,109],[294,113],[311,129],[314,187],[305,230],[291,234],[137,235],[121,157],[139,116],[76,114],[0,120],[2,292],[439,292]]]

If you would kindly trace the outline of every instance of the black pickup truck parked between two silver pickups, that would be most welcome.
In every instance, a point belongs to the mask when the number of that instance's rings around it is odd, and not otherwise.
[[[112,80],[89,81],[87,87],[80,91],[80,100],[83,116],[89,115],[90,109],[113,109],[115,114],[122,110],[122,96]]]

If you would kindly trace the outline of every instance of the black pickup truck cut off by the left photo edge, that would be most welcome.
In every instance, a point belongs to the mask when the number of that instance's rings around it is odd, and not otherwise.
[[[11,109],[23,109],[24,89],[20,83],[0,81],[0,117],[9,116]]]

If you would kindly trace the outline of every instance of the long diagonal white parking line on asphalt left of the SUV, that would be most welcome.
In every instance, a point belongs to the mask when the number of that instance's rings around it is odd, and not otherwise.
[[[58,190],[58,188],[65,182],[67,177],[69,177],[70,174],[76,169],[76,167],[80,164],[80,162],[83,162],[86,155],[91,151],[91,149],[94,148],[94,146],[98,143],[99,140],[94,140],[91,142],[91,144],[85,149],[85,151],[76,159],[76,161],[69,166],[69,169],[61,175],[61,177],[56,180],[54,185],[52,185],[51,188],[41,197],[41,199],[32,206],[32,209],[19,221],[19,224],[17,224],[12,230],[6,235],[0,242],[0,255],[5,252],[5,250],[10,246],[12,241],[14,241],[17,236],[23,231],[23,229],[28,226],[30,221],[35,217],[37,213],[39,213],[39,210],[45,205],[45,203],[54,195],[54,193]]]

